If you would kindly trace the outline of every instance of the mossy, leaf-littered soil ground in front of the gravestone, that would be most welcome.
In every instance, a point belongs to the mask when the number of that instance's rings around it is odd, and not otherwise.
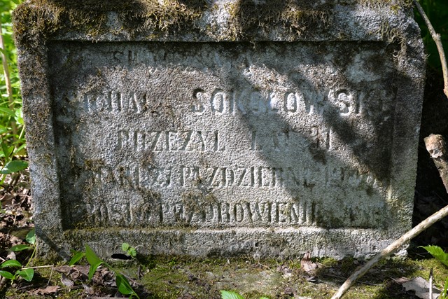
[[[34,265],[44,266],[44,260]],[[194,259],[152,257],[143,265],[137,260],[116,260],[114,267],[133,282],[140,298],[218,299],[220,291],[237,291],[246,299],[330,298],[346,277],[363,261],[323,258],[310,261],[317,265],[306,272],[300,260],[253,260],[252,258]],[[420,298],[407,291],[403,277],[428,278],[433,268],[435,285],[441,287],[448,270],[434,259],[407,258],[386,260],[374,267],[344,298]],[[88,266],[55,265],[36,269],[31,281],[7,284],[3,298],[119,298],[113,273],[97,270],[87,281]]]

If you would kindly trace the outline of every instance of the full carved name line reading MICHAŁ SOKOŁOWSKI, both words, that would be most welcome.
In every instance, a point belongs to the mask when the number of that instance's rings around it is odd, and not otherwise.
[[[391,96],[385,90],[349,90],[336,88],[324,91],[259,91],[246,88],[241,91],[216,89],[206,92],[202,88],[193,90],[190,113],[201,115],[212,113],[216,116],[274,115],[283,113],[295,115],[323,115],[325,111],[339,113],[339,116],[369,116],[378,113],[388,118]],[[105,90],[101,93],[77,95],[87,113],[144,113],[148,111],[148,92],[123,92]]]

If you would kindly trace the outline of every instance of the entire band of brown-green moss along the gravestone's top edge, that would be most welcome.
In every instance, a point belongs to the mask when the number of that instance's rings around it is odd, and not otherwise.
[[[358,3],[374,8],[388,6],[395,12],[412,6],[411,0],[358,0]],[[225,5],[230,20],[222,36],[215,36],[214,26],[202,29],[197,26],[204,11],[219,9],[216,4],[209,7],[207,0],[31,0],[18,6],[13,17],[15,38],[22,46],[36,46],[55,34],[67,32],[85,34],[95,40],[102,34],[125,34],[131,38],[145,34],[146,39],[158,39],[205,30],[206,35],[221,41],[251,40],[260,32],[266,34],[276,28],[302,38],[325,32],[332,26],[336,4],[337,1],[323,4],[298,0],[232,1]],[[116,17],[111,17],[110,12],[115,12]],[[121,27],[111,28],[110,18],[117,18]]]

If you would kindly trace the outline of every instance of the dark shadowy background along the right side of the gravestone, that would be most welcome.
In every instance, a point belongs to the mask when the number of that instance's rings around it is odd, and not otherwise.
[[[445,52],[448,50],[448,1],[419,1],[428,15],[435,31],[441,35]],[[423,100],[421,130],[419,140],[419,163],[417,169],[414,225],[448,204],[448,194],[439,173],[426,151],[423,138],[429,134],[442,134],[448,139],[448,99],[444,96],[442,67],[437,47],[419,13],[416,21],[421,28],[421,36],[428,55],[426,68],[426,88]],[[437,244],[448,248],[448,219],[436,223],[414,240],[416,245]]]

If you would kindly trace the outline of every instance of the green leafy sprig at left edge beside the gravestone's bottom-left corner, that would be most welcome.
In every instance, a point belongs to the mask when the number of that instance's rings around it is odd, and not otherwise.
[[[31,257],[29,258],[27,265],[23,267],[22,263],[20,263],[18,260],[5,260],[0,265],[0,276],[5,277],[6,279],[10,279],[11,282],[15,279],[18,279],[18,277],[22,277],[26,281],[31,281],[34,277],[34,269],[28,267],[28,265],[31,259],[34,257],[34,254],[36,254],[36,230],[30,230],[25,239],[29,244],[15,245],[12,246],[10,250],[19,252],[32,249],[33,253],[31,253]],[[15,272],[10,272],[15,268],[18,268],[18,270],[15,270]],[[8,269],[9,271],[3,269]]]

